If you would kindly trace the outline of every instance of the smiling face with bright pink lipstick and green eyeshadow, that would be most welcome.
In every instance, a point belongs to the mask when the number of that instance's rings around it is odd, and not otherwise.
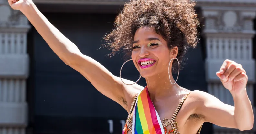
[[[176,57],[175,49],[170,49],[167,41],[154,28],[142,27],[134,35],[132,60],[144,78],[168,72],[171,58]]]

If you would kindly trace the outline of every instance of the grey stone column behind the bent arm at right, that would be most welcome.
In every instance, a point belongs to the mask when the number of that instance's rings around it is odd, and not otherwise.
[[[230,92],[223,87],[216,72],[225,59],[242,64],[248,75],[247,93],[253,104],[253,84],[255,82],[255,60],[253,59],[252,38],[255,35],[253,19],[254,7],[202,6],[204,17],[203,34],[206,37],[206,78],[208,93],[220,101],[233,105]],[[228,120],[227,120],[228,121]],[[214,125],[215,134],[240,134],[238,129],[222,128]],[[253,130],[247,132],[252,134]]]

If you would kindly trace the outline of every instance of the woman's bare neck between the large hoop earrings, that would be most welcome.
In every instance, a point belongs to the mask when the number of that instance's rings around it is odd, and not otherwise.
[[[176,81],[172,77],[172,74],[170,74],[170,78],[172,83]],[[174,93],[176,94],[177,91],[181,88],[177,83],[174,85],[171,84],[168,72],[163,72],[162,75],[158,74],[157,76],[146,78],[146,82],[151,100],[170,96]]]

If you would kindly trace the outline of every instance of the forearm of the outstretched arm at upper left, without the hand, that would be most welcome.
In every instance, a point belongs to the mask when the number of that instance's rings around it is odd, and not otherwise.
[[[56,53],[66,64],[67,62],[70,62],[69,59],[71,59],[72,55],[80,54],[77,46],[47,20],[34,3],[23,8],[21,12],[27,17],[54,53]]]

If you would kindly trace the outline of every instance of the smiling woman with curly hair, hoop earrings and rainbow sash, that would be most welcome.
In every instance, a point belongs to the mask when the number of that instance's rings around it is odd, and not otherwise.
[[[117,16],[115,29],[104,38],[112,54],[122,49],[131,56],[146,79],[146,87],[112,75],[99,62],[83,55],[31,0],[8,2],[25,14],[61,60],[127,110],[123,133],[196,134],[204,122],[241,131],[252,129],[254,115],[246,93],[248,77],[240,64],[225,60],[216,72],[232,94],[235,107],[208,93],[182,88],[172,77],[172,72],[179,73],[187,48],[197,44],[199,22],[194,2],[132,0]]]

